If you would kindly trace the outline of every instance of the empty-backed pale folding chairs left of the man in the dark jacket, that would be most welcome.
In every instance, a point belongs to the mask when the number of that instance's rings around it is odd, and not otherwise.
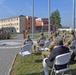
[[[19,54],[21,54],[22,56],[31,54],[32,53],[32,44],[33,44],[32,41],[27,41],[26,44],[21,47],[21,52],[19,52]],[[45,40],[40,40],[39,44],[41,46],[39,45],[37,47],[39,47],[40,50],[47,50],[48,46],[50,45],[50,41],[47,41],[45,43]]]

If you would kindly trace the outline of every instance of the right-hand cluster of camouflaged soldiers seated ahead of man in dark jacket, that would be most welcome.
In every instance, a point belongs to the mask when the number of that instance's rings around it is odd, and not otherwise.
[[[63,45],[70,48],[70,44],[72,43],[72,41],[74,41],[76,39],[74,31],[73,30],[70,31],[68,36],[66,35],[66,32],[64,32],[64,31],[62,31],[60,34],[59,34],[59,32],[51,32],[50,38],[48,39],[48,41],[51,40],[50,45],[49,45],[47,51],[42,52],[42,58],[44,59],[45,57],[47,57],[50,54],[50,52],[55,47],[55,43],[58,39],[63,40]],[[43,39],[43,38],[40,37],[38,41],[40,41],[41,39]]]

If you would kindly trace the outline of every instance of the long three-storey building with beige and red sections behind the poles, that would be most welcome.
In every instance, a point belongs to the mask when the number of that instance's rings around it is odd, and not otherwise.
[[[32,31],[31,16],[16,16],[0,20],[0,29],[10,33],[23,33],[24,30]],[[34,31],[48,30],[48,18],[34,17]],[[56,30],[56,26],[50,25],[50,30]]]

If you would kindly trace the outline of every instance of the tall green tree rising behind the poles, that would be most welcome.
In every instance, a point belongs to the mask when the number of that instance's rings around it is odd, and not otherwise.
[[[51,16],[51,24],[57,25],[57,27],[61,27],[61,17],[60,17],[60,12],[58,9],[56,9],[54,12],[52,12]]]

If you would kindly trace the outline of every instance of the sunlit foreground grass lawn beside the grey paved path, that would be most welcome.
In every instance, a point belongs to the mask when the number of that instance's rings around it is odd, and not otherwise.
[[[72,75],[76,75],[75,63],[71,64]],[[43,75],[41,53],[36,52],[24,57],[17,55],[10,75]]]

